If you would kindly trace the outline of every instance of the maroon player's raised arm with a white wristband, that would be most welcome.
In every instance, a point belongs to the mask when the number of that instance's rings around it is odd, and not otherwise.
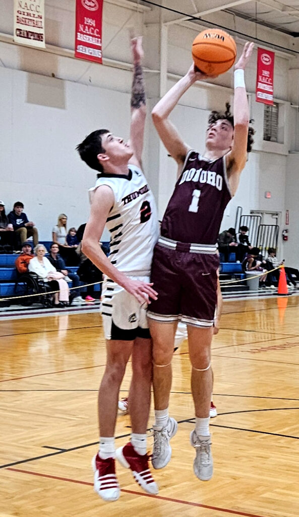
[[[244,70],[250,59],[254,43],[245,43],[242,55],[234,66],[233,119],[234,136],[231,151],[226,155],[227,175],[231,193],[238,188],[240,174],[247,159],[249,107],[244,82]]]

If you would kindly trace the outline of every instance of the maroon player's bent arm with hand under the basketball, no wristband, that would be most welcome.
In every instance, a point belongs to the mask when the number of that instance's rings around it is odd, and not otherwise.
[[[184,163],[190,147],[184,143],[177,128],[170,122],[168,117],[187,89],[201,79],[207,79],[207,76],[197,69],[195,70],[194,65],[192,65],[186,75],[170,88],[152,111],[152,119],[155,128],[168,153],[179,165]]]

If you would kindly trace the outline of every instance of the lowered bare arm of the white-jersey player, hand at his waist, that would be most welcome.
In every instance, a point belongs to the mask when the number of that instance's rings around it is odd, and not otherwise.
[[[134,295],[139,303],[148,302],[149,298],[156,299],[156,292],[152,289],[152,284],[131,280],[111,264],[101,249],[99,241],[113,204],[114,194],[111,188],[106,185],[98,187],[92,197],[90,217],[82,239],[82,251],[108,278]]]

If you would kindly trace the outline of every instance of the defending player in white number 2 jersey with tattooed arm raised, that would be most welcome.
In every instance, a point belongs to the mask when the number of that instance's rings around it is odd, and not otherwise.
[[[148,466],[146,429],[152,379],[151,340],[146,306],[157,293],[149,281],[154,245],[158,240],[158,216],[153,195],[141,171],[146,98],[141,68],[141,38],[132,39],[134,77],[131,96],[130,140],[108,130],[94,131],[77,146],[81,158],[99,172],[90,189],[91,212],[82,250],[104,273],[101,312],[106,338],[107,362],[99,389],[100,447],[93,458],[95,491],[105,500],[117,500],[120,487],[115,457],[132,470],[148,493],[158,486]],[[107,258],[99,240],[107,226],[111,252]],[[132,356],[130,442],[115,450],[115,423],[120,385]]]

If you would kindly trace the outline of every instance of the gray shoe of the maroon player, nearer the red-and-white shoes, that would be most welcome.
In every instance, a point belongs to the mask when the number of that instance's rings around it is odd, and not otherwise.
[[[152,466],[154,468],[166,467],[171,458],[170,438],[175,436],[178,430],[178,422],[169,417],[167,424],[162,429],[153,425],[154,445],[152,453]]]

